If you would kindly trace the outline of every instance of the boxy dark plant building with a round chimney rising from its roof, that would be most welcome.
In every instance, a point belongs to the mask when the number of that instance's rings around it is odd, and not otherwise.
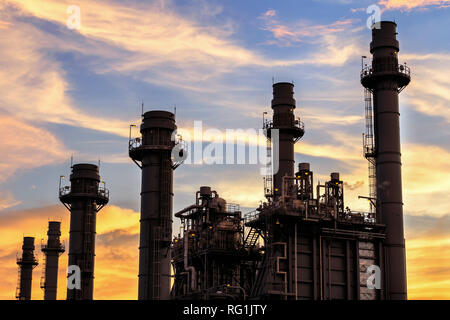
[[[263,243],[249,297],[380,299],[380,290],[367,287],[366,270],[382,261],[383,226],[370,213],[345,208],[338,172],[316,188],[309,163],[300,163],[294,174],[294,143],[303,136],[304,126],[293,114],[293,84],[273,87],[273,119],[264,125],[275,155],[273,191],[265,186],[268,201],[245,220],[249,231],[244,247],[254,247],[258,236]]]

